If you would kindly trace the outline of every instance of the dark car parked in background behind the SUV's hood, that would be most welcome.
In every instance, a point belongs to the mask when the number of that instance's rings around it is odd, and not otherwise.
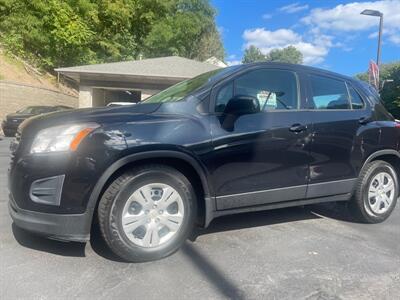
[[[58,106],[28,106],[16,113],[9,114],[6,116],[5,120],[1,123],[3,133],[5,136],[14,136],[17,133],[17,128],[24,120],[49,112],[69,110],[72,107],[58,105]]]

